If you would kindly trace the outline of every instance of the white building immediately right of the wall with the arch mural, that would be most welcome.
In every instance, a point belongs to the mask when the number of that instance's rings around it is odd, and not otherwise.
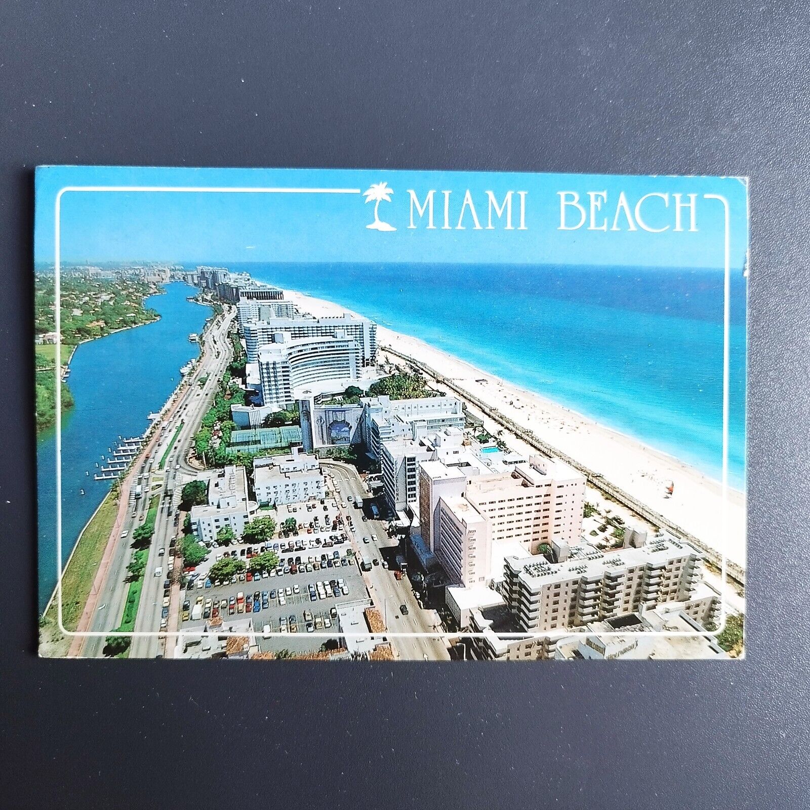
[[[380,458],[382,441],[418,439],[443,428],[464,427],[464,411],[458,397],[390,399],[380,396],[361,401],[363,440],[373,458]]]

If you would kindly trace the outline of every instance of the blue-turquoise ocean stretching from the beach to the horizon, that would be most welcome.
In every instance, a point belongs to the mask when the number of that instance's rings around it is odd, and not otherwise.
[[[720,479],[723,272],[448,264],[229,266],[335,301]],[[745,480],[746,279],[731,279],[729,480]]]

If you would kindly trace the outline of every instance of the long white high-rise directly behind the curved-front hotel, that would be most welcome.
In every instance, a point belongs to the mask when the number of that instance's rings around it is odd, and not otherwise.
[[[258,360],[258,351],[272,343],[277,332],[286,332],[293,339],[334,337],[340,331],[360,347],[362,364],[373,365],[377,358],[377,324],[368,318],[344,313],[339,316],[314,318],[312,315],[271,315],[266,306],[258,307],[258,318],[242,325],[245,350],[249,363]],[[276,305],[277,309],[277,305]]]

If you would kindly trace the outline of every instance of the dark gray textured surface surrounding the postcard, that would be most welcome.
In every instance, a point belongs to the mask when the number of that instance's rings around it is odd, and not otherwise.
[[[705,0],[0,3],[0,805],[807,806],[808,22]],[[748,659],[36,659],[45,163],[749,175]]]

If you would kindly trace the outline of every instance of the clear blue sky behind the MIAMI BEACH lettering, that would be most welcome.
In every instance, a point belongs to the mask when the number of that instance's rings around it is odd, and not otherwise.
[[[379,216],[396,230],[365,226],[373,220],[373,203],[362,194],[372,183],[386,181],[393,194],[382,202]],[[54,204],[58,191],[76,185],[185,187],[329,188],[346,194],[279,194],[67,191],[61,199],[62,262],[156,261],[227,264],[228,262],[504,262],[632,266],[723,266],[723,206],[704,194],[721,194],[731,209],[731,264],[743,266],[748,232],[745,185],[735,178],[626,177],[582,174],[480,172],[411,172],[354,169],[194,169],[53,166],[36,172],[36,262],[53,262]],[[434,224],[408,228],[410,197],[420,202],[435,189]],[[473,227],[465,191],[471,192],[481,229]],[[450,190],[451,229],[443,229],[444,198]],[[514,190],[513,230],[488,230],[488,197],[498,203]],[[526,195],[526,229],[518,229],[518,196]],[[644,221],[665,232],[629,230],[619,217],[619,231],[563,231],[558,192],[573,191],[587,208],[588,191],[605,191],[608,228],[624,191],[633,209],[644,194],[668,194],[645,203]],[[674,232],[674,198],[697,194],[697,232]],[[570,196],[568,197],[571,198]],[[566,209],[567,224],[578,220]],[[688,227],[688,211],[684,211]],[[499,220],[493,217],[493,224]]]

